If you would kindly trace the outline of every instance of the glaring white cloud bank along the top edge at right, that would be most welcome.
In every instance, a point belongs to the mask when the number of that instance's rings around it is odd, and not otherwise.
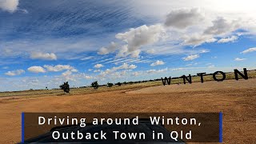
[[[149,17],[159,18],[164,16],[170,10],[177,9],[179,7],[194,8],[200,7],[202,10],[207,10],[212,14],[229,14],[230,17],[238,17],[238,14],[242,14],[244,17],[255,15],[255,2],[253,0],[244,1],[232,1],[232,0],[147,0],[147,1],[134,1],[134,10],[136,14],[143,14]]]

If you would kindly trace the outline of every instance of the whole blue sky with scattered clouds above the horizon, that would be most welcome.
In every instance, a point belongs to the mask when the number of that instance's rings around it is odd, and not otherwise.
[[[256,69],[253,0],[0,0],[0,91]]]

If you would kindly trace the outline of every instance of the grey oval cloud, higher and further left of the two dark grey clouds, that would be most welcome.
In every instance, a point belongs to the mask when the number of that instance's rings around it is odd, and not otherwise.
[[[172,10],[166,16],[165,26],[173,26],[178,29],[184,29],[187,26],[192,26],[202,22],[204,16],[199,9],[180,9]]]

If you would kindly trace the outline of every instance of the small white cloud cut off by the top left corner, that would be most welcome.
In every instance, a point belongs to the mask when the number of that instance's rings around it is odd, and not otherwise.
[[[18,0],[0,0],[0,9],[14,13],[18,10]]]

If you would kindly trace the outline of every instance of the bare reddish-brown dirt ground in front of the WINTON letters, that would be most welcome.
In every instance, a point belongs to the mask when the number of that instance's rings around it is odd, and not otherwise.
[[[223,112],[225,143],[256,142],[256,79],[0,99],[0,143],[20,141],[21,112]]]

